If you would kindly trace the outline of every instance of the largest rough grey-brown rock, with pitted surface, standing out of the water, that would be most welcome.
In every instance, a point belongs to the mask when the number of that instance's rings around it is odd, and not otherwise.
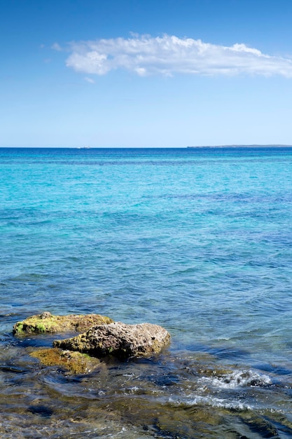
[[[55,341],[53,346],[89,353],[98,358],[107,355],[129,358],[159,353],[169,340],[169,333],[161,326],[151,323],[127,325],[116,322],[90,327],[87,332],[76,337]]]

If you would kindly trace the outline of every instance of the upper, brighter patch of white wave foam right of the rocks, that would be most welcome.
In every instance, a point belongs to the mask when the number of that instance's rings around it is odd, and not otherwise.
[[[270,377],[265,374],[259,374],[252,370],[239,370],[221,377],[201,377],[199,383],[211,385],[221,389],[237,389],[238,387],[258,387],[272,384]]]

